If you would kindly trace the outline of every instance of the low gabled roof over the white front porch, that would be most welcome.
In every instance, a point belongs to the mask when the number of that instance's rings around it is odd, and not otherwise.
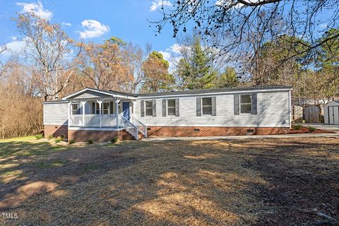
[[[133,95],[131,93],[117,92],[117,91],[113,91],[113,90],[97,90],[97,89],[94,89],[94,88],[84,88],[83,90],[80,90],[76,93],[73,93],[71,95],[68,95],[68,96],[62,98],[62,100],[71,100],[73,98],[76,98],[76,97],[82,95],[83,93],[97,93],[98,96],[104,95],[106,97],[109,96],[109,97],[117,97],[117,98],[136,100],[136,95]]]

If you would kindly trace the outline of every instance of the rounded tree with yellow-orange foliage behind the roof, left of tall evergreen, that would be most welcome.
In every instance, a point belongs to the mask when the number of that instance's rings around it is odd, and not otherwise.
[[[174,83],[174,78],[168,73],[169,63],[160,52],[153,51],[143,62],[143,73],[145,82],[143,90],[147,92],[157,92],[169,89],[169,85]]]

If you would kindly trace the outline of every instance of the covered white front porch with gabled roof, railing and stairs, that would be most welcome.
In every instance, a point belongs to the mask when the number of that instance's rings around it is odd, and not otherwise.
[[[86,88],[64,100],[69,101],[69,130],[124,129],[136,139],[138,133],[147,136],[147,127],[133,117],[133,95]]]

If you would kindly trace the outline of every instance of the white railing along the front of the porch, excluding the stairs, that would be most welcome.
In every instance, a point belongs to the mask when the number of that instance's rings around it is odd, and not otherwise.
[[[73,114],[69,116],[70,126],[117,127],[117,114]]]

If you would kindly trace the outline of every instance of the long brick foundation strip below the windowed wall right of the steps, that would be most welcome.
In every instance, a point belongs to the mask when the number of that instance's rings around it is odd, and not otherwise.
[[[285,134],[281,127],[225,127],[225,126],[148,126],[147,136],[243,136]]]

